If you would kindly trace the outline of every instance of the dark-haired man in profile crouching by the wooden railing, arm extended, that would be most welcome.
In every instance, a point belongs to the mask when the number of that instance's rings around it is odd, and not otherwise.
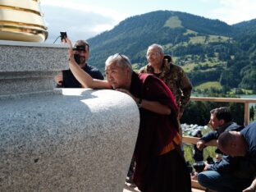
[[[228,107],[219,107],[211,110],[211,117],[209,124],[213,128],[208,134],[203,135],[197,142],[196,146],[202,150],[207,142],[212,139],[217,139],[218,136],[226,130],[241,130],[244,126],[239,126],[232,122],[231,112]]]

